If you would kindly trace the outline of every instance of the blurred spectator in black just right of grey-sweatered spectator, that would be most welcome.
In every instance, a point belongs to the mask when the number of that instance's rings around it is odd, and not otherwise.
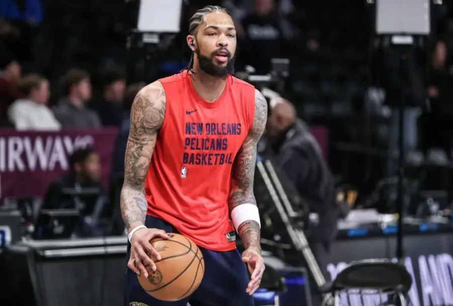
[[[120,69],[110,69],[103,76],[103,96],[93,104],[103,126],[120,126],[125,113],[122,106],[126,76]]]

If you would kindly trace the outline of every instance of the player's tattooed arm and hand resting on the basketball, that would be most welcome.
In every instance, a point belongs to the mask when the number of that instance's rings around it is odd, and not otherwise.
[[[164,123],[165,109],[165,91],[160,82],[141,89],[132,104],[120,199],[121,215],[128,233],[144,226],[147,210],[144,179],[153,156],[157,133]],[[149,243],[154,237],[168,239],[163,230],[144,228],[136,229],[130,237],[131,249],[127,266],[137,274],[143,273],[144,277],[148,277],[146,267],[156,271],[155,260],[161,259]]]

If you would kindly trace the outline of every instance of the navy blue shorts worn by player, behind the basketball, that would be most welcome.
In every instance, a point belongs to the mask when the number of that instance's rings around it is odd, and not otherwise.
[[[169,223],[147,216],[145,225],[167,233],[177,233]],[[253,297],[246,292],[250,281],[247,267],[237,250],[214,252],[199,248],[203,253],[205,272],[200,286],[188,298],[166,302],[150,296],[138,283],[137,274],[127,268],[126,271],[126,306],[253,306]],[[127,260],[130,255],[127,246]]]

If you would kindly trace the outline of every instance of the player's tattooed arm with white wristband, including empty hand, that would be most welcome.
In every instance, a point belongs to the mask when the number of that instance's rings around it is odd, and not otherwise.
[[[260,220],[253,179],[255,176],[257,143],[266,127],[267,102],[258,90],[255,90],[255,114],[249,131],[233,165],[232,185],[229,206],[233,224],[244,243],[242,259],[247,263],[251,280],[246,289],[253,294],[259,287],[264,272],[264,260],[261,257]]]

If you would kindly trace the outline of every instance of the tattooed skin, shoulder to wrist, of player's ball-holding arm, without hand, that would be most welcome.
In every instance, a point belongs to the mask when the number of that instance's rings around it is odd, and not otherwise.
[[[165,91],[150,85],[135,97],[124,160],[121,214],[128,230],[144,223],[147,202],[143,182],[156,145],[157,132],[165,116]]]

